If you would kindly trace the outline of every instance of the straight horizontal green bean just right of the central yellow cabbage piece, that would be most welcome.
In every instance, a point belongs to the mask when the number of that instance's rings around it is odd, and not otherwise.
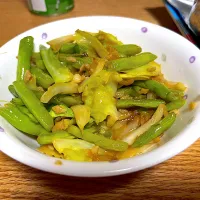
[[[132,107],[143,107],[143,108],[157,108],[160,104],[165,104],[165,101],[159,99],[119,99],[117,100],[117,108],[125,109]]]

